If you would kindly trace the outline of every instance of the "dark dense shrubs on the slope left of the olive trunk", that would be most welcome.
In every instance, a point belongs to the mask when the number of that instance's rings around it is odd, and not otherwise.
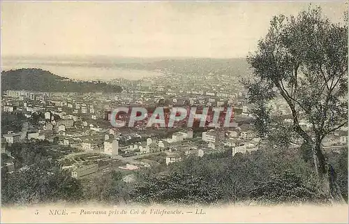
[[[319,193],[320,186],[311,164],[306,163],[300,152],[294,149],[260,149],[225,158],[189,156],[181,162],[170,164],[168,169],[168,172],[161,174],[157,174],[154,170],[139,173],[135,190],[131,192],[132,200],[143,203],[215,203],[249,200],[280,203],[290,201],[292,198],[295,202],[326,201]],[[290,170],[292,175],[284,176],[285,170]],[[292,181],[295,181],[295,184],[290,185],[289,182]],[[256,183],[260,184],[256,186]],[[194,192],[191,189],[193,186],[197,186],[198,191]],[[215,196],[202,195],[201,191],[204,189],[201,186],[205,186],[205,189]],[[287,186],[285,190],[290,197],[282,194],[283,186]],[[272,192],[270,197],[267,192],[258,196],[256,192],[262,191],[258,190],[262,187]],[[188,195],[190,193],[195,197]]]

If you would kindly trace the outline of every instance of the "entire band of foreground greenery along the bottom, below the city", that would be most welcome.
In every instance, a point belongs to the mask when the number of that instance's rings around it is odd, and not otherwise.
[[[86,179],[73,179],[59,170],[45,147],[38,143],[10,147],[16,165],[13,173],[1,169],[3,204],[44,202],[102,202],[119,204],[248,202],[325,202],[311,164],[295,149],[259,149],[235,156],[189,156],[178,163],[135,172],[126,183],[120,172]],[[347,150],[328,154],[338,171],[344,197],[348,191]],[[11,157],[3,157],[3,161]],[[285,172],[289,170],[289,172]]]

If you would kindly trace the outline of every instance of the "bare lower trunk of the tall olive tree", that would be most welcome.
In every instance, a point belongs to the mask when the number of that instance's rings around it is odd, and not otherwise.
[[[320,141],[315,142],[315,145],[313,147],[313,154],[314,153],[315,155],[313,156],[315,171],[318,174],[318,179],[320,181],[323,193],[325,193],[325,195],[329,195],[332,202],[334,203],[345,202],[341,194],[341,189],[336,183],[336,172],[334,170],[334,167],[327,163],[325,155],[323,154],[321,149]]]

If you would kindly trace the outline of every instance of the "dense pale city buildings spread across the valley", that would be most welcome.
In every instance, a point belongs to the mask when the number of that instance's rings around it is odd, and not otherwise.
[[[120,93],[7,90],[2,96],[3,116],[20,114],[20,119],[16,121],[17,126],[3,126],[3,151],[11,144],[29,142],[48,142],[54,150],[70,147],[71,153],[58,158],[59,163],[64,170],[70,170],[72,177],[86,178],[111,170],[170,165],[188,156],[224,152],[235,155],[258,149],[261,142],[251,123],[248,96],[237,77],[222,73],[161,72],[162,76],[138,81],[111,81],[122,87]],[[282,100],[275,100],[269,106],[273,114],[292,122]],[[121,121],[130,120],[134,107],[144,108],[148,118],[130,126],[114,127],[110,121],[112,111],[118,107],[129,108],[128,113],[119,114]],[[164,108],[165,124],[174,107],[186,108],[187,117],[175,121],[173,126],[149,126],[149,117],[156,107]],[[223,127],[225,110],[220,112],[216,125],[209,125],[215,119],[214,108],[218,107],[232,108],[230,126]],[[202,114],[205,108],[209,108],[209,112],[206,117],[194,119],[193,126],[188,127],[191,108],[196,108],[195,114]],[[206,123],[200,128],[202,119]],[[311,128],[305,121],[300,125],[305,130]],[[346,128],[341,128],[326,144],[329,147],[346,144],[347,139]],[[157,154],[161,154],[162,159],[152,160]],[[11,170],[13,168],[8,172]]]

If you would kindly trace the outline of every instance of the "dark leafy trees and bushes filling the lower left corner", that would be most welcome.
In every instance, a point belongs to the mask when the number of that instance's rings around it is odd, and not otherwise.
[[[15,171],[1,169],[3,204],[33,204],[43,202],[76,202],[81,199],[80,181],[70,172],[60,170],[57,156],[47,150],[47,142],[12,144]],[[12,158],[12,157],[11,157]]]

